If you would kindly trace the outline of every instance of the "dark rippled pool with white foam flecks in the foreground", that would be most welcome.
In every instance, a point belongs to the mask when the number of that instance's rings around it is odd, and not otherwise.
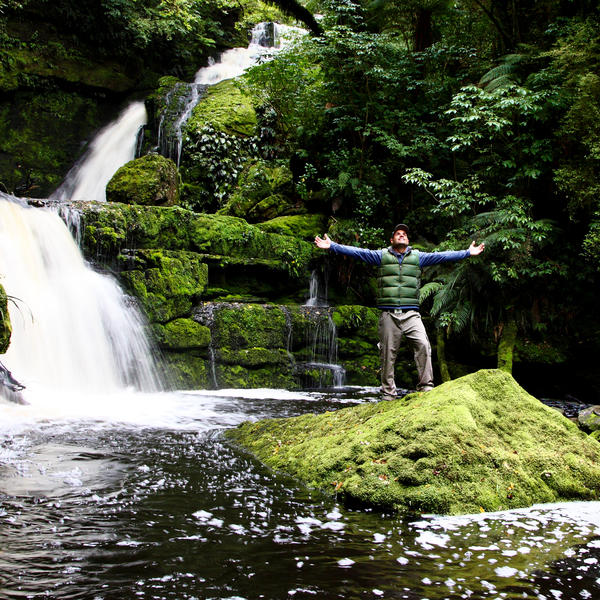
[[[369,399],[0,404],[0,598],[600,597],[600,503],[409,521],[347,509],[222,437]]]

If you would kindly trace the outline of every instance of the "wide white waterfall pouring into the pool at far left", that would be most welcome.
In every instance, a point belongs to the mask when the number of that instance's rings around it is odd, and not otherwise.
[[[2,362],[27,400],[159,389],[140,314],[56,212],[0,194],[0,276],[13,326]]]

